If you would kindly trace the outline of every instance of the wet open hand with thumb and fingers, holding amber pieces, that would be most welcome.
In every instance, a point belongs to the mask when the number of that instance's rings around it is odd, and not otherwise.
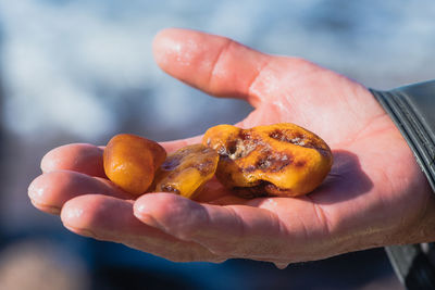
[[[373,247],[434,240],[435,202],[411,150],[360,84],[296,58],[272,56],[229,39],[167,29],[158,64],[216,97],[250,102],[238,126],[289,122],[321,136],[334,166],[301,198],[235,198],[216,180],[199,201],[149,193],[136,201],[104,178],[102,149],[49,152],[29,187],[36,207],[70,230],[172,261],[270,261],[278,267]],[[164,143],[173,151],[200,137]]]

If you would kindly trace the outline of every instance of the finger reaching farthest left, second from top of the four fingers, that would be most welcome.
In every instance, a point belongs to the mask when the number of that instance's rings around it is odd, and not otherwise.
[[[96,192],[120,199],[134,198],[108,179],[69,171],[42,174],[28,187],[32,203],[38,210],[51,214],[59,214],[63,204],[73,198]]]

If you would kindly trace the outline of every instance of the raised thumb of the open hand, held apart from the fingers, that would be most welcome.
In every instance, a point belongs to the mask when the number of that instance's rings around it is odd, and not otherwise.
[[[238,97],[256,105],[249,87],[270,55],[228,38],[187,29],[165,29],[153,42],[157,63],[170,75],[210,94]]]

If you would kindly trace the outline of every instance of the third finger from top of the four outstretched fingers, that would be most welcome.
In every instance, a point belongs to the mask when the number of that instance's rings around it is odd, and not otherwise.
[[[87,194],[70,200],[62,209],[61,219],[70,230],[176,262],[223,260],[195,242],[186,242],[142,224],[133,215],[132,202]]]

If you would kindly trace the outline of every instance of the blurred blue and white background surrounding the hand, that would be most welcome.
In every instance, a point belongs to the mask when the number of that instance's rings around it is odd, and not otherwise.
[[[152,38],[195,28],[388,89],[435,77],[435,2],[0,0],[0,289],[400,289],[383,249],[290,265],[172,263],[69,232],[27,187],[50,149],[170,140],[251,110],[164,75]]]

